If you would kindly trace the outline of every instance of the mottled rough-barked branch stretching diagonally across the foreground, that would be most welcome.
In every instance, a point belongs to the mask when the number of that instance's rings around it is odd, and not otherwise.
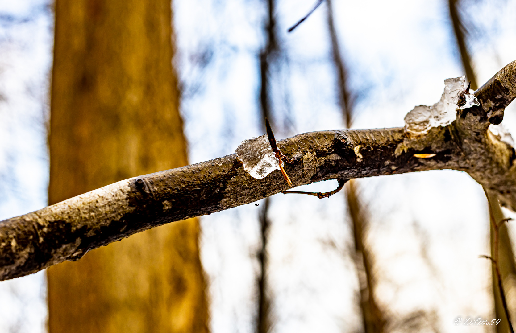
[[[514,148],[488,127],[503,120],[516,97],[516,61],[475,96],[480,106],[458,110],[446,127],[414,137],[404,128],[325,130],[279,141],[294,158],[285,170],[293,187],[336,178],[424,170],[467,172],[516,210]],[[433,153],[431,158],[414,154]],[[55,205],[0,222],[0,280],[38,272],[90,249],[158,225],[252,203],[288,190],[279,171],[251,177],[236,155],[125,179]]]

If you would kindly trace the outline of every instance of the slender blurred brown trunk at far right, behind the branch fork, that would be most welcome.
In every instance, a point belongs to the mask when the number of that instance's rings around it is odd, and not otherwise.
[[[460,15],[460,0],[449,0],[449,11],[451,22],[454,27],[455,37],[457,40],[457,46],[459,47],[462,66],[466,72],[466,76],[471,80],[471,89],[476,90],[477,79],[471,63],[471,56],[467,51],[466,47],[466,36],[465,28]],[[488,198],[488,205],[490,211],[490,219],[494,219],[495,223],[499,223],[505,217],[498,203],[498,195],[494,192],[489,192],[485,189]],[[491,256],[494,256],[494,229],[492,223],[490,225],[490,242],[491,242]],[[510,241],[509,233],[507,232],[507,226],[504,224],[498,229],[498,248],[499,248],[499,260],[498,267],[502,274],[502,281],[506,281],[510,277],[516,277],[516,263],[514,262],[514,254],[512,250],[512,244]],[[498,332],[507,332],[509,324],[505,315],[505,310],[502,305],[500,290],[498,288],[498,278],[494,266],[492,267],[492,284],[493,284],[493,297],[496,318],[501,319],[501,323],[496,326]],[[504,283],[505,285],[505,283]],[[504,286],[506,291],[511,286]]]

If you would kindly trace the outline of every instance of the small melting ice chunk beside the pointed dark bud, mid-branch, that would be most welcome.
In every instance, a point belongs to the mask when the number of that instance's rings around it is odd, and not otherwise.
[[[279,160],[272,151],[266,134],[242,141],[235,153],[237,159],[244,163],[244,170],[256,179],[265,178],[272,171],[280,170]]]

